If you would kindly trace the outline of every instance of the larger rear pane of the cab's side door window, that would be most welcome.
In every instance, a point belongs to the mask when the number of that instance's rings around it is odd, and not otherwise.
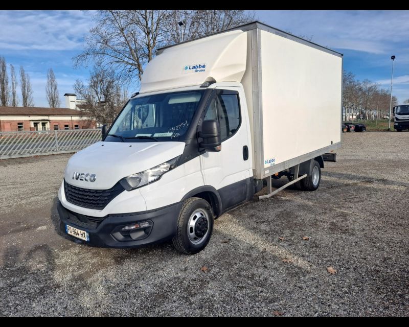
[[[240,126],[239,98],[236,94],[218,96],[221,141],[233,135]]]

